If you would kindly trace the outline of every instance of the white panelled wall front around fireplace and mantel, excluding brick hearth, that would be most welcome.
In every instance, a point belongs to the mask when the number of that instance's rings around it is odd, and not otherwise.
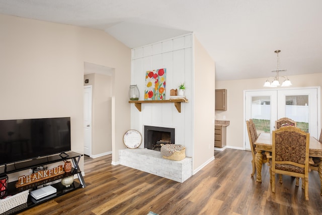
[[[173,103],[143,103],[141,112],[131,104],[131,128],[144,135],[144,125],[176,129],[175,142],[186,147],[193,157],[193,34],[132,49],[131,85],[137,85],[144,100],[145,74],[148,70],[166,68],[166,99],[171,89],[185,82],[189,103],[181,104],[179,113]],[[143,149],[144,142],[140,148]]]

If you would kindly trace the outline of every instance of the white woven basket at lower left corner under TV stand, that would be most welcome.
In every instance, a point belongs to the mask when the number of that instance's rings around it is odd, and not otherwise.
[[[13,196],[8,196],[7,198],[0,199],[0,213],[6,212],[14,207],[27,202],[29,195],[29,190],[17,193]]]

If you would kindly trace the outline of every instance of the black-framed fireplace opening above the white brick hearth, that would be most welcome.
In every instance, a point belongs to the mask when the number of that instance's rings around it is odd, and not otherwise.
[[[175,128],[144,125],[144,148],[160,151],[161,144],[175,144]]]

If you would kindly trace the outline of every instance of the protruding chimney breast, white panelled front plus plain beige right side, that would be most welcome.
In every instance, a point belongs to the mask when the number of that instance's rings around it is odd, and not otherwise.
[[[144,100],[146,71],[159,68],[167,69],[166,99],[171,89],[178,89],[185,82],[189,102],[181,103],[181,113],[174,103],[142,103],[141,111],[129,103],[131,129],[144,135],[144,125],[175,128],[175,143],[185,146],[187,159],[189,157],[181,170],[192,171],[193,175],[214,159],[215,63],[193,33],[134,48],[130,84],[138,86],[139,100]],[[140,150],[152,151],[143,147],[144,142]],[[189,175],[182,176],[181,181],[187,177]]]

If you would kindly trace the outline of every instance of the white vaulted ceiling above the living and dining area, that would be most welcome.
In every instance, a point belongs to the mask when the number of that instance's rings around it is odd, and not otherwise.
[[[102,29],[130,48],[194,32],[216,80],[322,72],[320,0],[0,0],[0,14]]]

